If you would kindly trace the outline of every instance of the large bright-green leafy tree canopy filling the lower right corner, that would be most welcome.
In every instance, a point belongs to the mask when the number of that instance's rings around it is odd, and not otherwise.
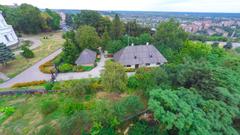
[[[236,110],[187,89],[151,91],[149,109],[163,129],[174,134],[238,134],[232,127]]]

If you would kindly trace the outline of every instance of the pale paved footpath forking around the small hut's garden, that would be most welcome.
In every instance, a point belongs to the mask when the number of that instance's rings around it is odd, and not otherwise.
[[[48,57],[40,60],[32,67],[26,69],[24,72],[20,73],[16,77],[6,81],[5,83],[0,84],[0,88],[9,88],[15,83],[22,83],[22,82],[31,82],[31,81],[40,81],[40,80],[50,80],[51,75],[44,74],[39,70],[39,66],[44,64],[45,62],[55,58],[58,54],[62,52],[62,49],[57,50],[56,52],[52,53]],[[88,72],[80,72],[80,73],[59,73],[57,76],[57,81],[63,80],[72,80],[72,79],[82,79],[82,78],[95,78],[99,77],[102,69],[104,68],[105,61],[107,59],[101,56],[101,60],[98,63],[97,67],[93,70]]]

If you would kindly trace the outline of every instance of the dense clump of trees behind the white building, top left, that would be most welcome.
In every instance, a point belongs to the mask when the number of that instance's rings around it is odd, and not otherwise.
[[[41,12],[32,5],[21,4],[18,7],[0,5],[0,10],[8,24],[18,32],[29,34],[59,29],[61,17],[49,9]]]

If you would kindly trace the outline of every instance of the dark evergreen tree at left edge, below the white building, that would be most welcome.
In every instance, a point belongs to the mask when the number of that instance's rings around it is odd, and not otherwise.
[[[3,43],[0,43],[0,63],[6,64],[8,61],[15,59],[12,51]]]

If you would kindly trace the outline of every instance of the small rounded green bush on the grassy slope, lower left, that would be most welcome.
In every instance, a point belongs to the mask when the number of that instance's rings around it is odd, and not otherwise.
[[[43,115],[48,115],[57,110],[57,108],[58,103],[52,100],[43,101],[43,103],[40,106],[40,110]]]

